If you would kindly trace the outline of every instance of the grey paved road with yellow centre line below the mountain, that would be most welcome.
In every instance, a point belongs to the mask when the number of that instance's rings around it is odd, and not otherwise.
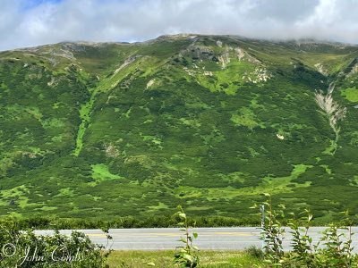
[[[325,228],[311,228],[310,235],[313,241],[320,239],[321,231]],[[92,242],[106,246],[106,235],[101,230],[79,230],[86,233]],[[261,246],[260,230],[255,227],[238,228],[196,228],[199,234],[194,244],[200,249],[217,250],[240,250],[250,246]],[[37,234],[51,234],[52,230],[37,230]],[[72,230],[61,230],[63,234],[70,234]],[[358,227],[354,227],[354,232],[358,233]],[[160,229],[111,229],[109,234],[113,237],[110,241],[112,249],[115,250],[158,250],[175,249],[180,246],[179,239],[181,232],[176,228]],[[288,250],[289,235],[284,240],[284,248]],[[358,235],[354,235],[354,247],[358,252]]]

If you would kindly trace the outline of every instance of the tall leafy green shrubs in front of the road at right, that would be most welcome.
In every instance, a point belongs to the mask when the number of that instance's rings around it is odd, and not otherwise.
[[[323,231],[319,241],[313,242],[309,235],[312,215],[309,211],[296,215],[286,213],[285,205],[273,209],[270,195],[262,205],[268,208],[261,226],[261,239],[264,242],[264,263],[268,267],[358,267],[358,255],[352,246],[352,224],[348,213],[341,222],[332,223]],[[285,225],[292,235],[292,250],[284,252]]]

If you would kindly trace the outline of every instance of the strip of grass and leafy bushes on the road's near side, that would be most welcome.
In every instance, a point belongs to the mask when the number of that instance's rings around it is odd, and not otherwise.
[[[103,230],[107,236],[107,246],[103,247],[93,245],[88,236],[77,231],[71,236],[61,235],[58,230],[51,236],[41,236],[21,227],[16,220],[3,220],[0,222],[0,267],[357,267],[351,214],[345,212],[339,223],[330,224],[317,242],[309,234],[313,218],[309,210],[290,213],[285,205],[274,208],[271,195],[264,194],[264,197],[266,201],[261,205],[266,207],[266,213],[260,228],[263,249],[200,251],[192,245],[198,234],[190,233],[190,219],[179,206],[174,217],[180,220],[178,225],[182,227],[183,236],[178,240],[182,246],[175,251],[113,252],[107,247],[112,239],[108,229]],[[292,250],[288,252],[283,249],[286,231],[291,234]]]

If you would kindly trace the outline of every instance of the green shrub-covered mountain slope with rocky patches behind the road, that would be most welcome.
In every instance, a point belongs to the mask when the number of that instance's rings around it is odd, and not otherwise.
[[[358,46],[166,36],[0,53],[0,213],[358,213]]]

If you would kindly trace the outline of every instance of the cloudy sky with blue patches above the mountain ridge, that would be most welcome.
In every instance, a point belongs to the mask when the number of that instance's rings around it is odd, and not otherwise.
[[[358,44],[358,0],[0,0],[0,50],[178,33]]]

